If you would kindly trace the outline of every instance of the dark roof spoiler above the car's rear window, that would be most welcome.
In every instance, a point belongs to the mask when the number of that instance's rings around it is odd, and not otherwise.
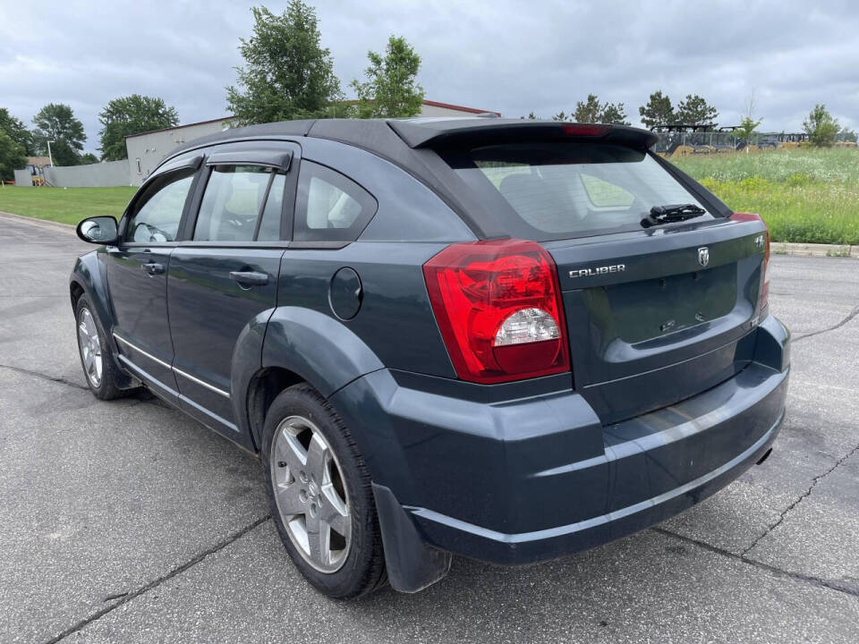
[[[537,140],[599,140],[627,148],[651,148],[659,136],[627,125],[525,121],[522,119],[458,119],[455,121],[388,121],[410,148],[473,146]]]

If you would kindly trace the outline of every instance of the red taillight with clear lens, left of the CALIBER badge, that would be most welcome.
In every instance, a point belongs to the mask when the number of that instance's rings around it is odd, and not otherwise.
[[[540,244],[453,244],[423,275],[463,380],[489,384],[570,369],[555,262]]]

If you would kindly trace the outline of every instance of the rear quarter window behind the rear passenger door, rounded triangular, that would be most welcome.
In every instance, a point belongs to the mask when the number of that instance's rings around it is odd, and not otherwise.
[[[344,242],[358,238],[376,213],[376,199],[324,165],[302,161],[295,197],[293,239]]]

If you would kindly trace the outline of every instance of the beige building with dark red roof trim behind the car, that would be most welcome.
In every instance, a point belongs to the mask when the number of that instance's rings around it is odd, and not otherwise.
[[[478,114],[498,114],[489,110],[476,109],[451,105],[449,103],[438,103],[438,101],[425,100],[421,107],[421,116],[459,116],[469,117]],[[125,137],[125,148],[128,152],[129,175],[133,185],[140,185],[146,177],[174,148],[190,140],[199,139],[207,134],[214,134],[226,130],[230,126],[232,116],[224,116],[211,121],[200,123],[189,123],[177,125],[164,130],[153,130],[132,134]]]

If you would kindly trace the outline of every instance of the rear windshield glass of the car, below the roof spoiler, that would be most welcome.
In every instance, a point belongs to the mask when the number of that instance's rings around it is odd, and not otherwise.
[[[559,142],[441,155],[487,208],[505,219],[506,231],[523,239],[641,230],[653,206],[691,203],[707,209],[657,161],[632,148]]]

